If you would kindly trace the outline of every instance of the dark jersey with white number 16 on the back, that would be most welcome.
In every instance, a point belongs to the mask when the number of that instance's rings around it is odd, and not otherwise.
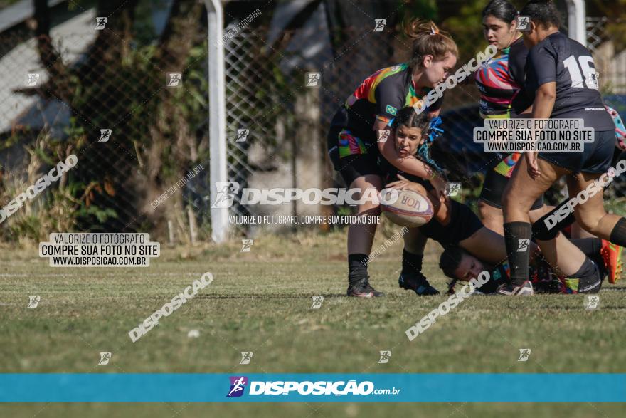
[[[533,98],[539,86],[556,83],[553,118],[583,119],[585,127],[614,130],[598,91],[598,75],[590,51],[561,32],[531,48],[526,60],[526,94]]]

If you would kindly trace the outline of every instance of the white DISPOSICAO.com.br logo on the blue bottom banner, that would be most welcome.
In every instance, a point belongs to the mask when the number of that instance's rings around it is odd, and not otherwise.
[[[376,389],[373,382],[364,380],[339,380],[336,382],[319,380],[312,382],[304,380],[276,380],[276,381],[256,381],[248,382],[248,377],[231,376],[230,389],[226,397],[240,397],[245,391],[245,387],[250,383],[248,395],[398,395],[401,389],[393,387],[391,389]]]

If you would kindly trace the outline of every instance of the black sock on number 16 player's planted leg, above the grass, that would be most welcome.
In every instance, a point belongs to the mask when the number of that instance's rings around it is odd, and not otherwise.
[[[529,222],[504,224],[504,242],[511,267],[511,283],[514,286],[519,286],[529,279],[530,239],[531,224]],[[520,240],[524,241],[520,242]]]

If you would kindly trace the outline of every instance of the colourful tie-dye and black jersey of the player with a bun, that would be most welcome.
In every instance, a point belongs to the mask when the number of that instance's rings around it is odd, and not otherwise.
[[[415,106],[428,94],[429,89],[415,91],[408,63],[382,68],[366,78],[359,88],[346,100],[335,114],[331,126],[344,127],[339,133],[337,144],[339,157],[366,154],[369,149],[377,149],[376,120],[388,123],[401,108]],[[441,108],[442,100],[428,110]]]

